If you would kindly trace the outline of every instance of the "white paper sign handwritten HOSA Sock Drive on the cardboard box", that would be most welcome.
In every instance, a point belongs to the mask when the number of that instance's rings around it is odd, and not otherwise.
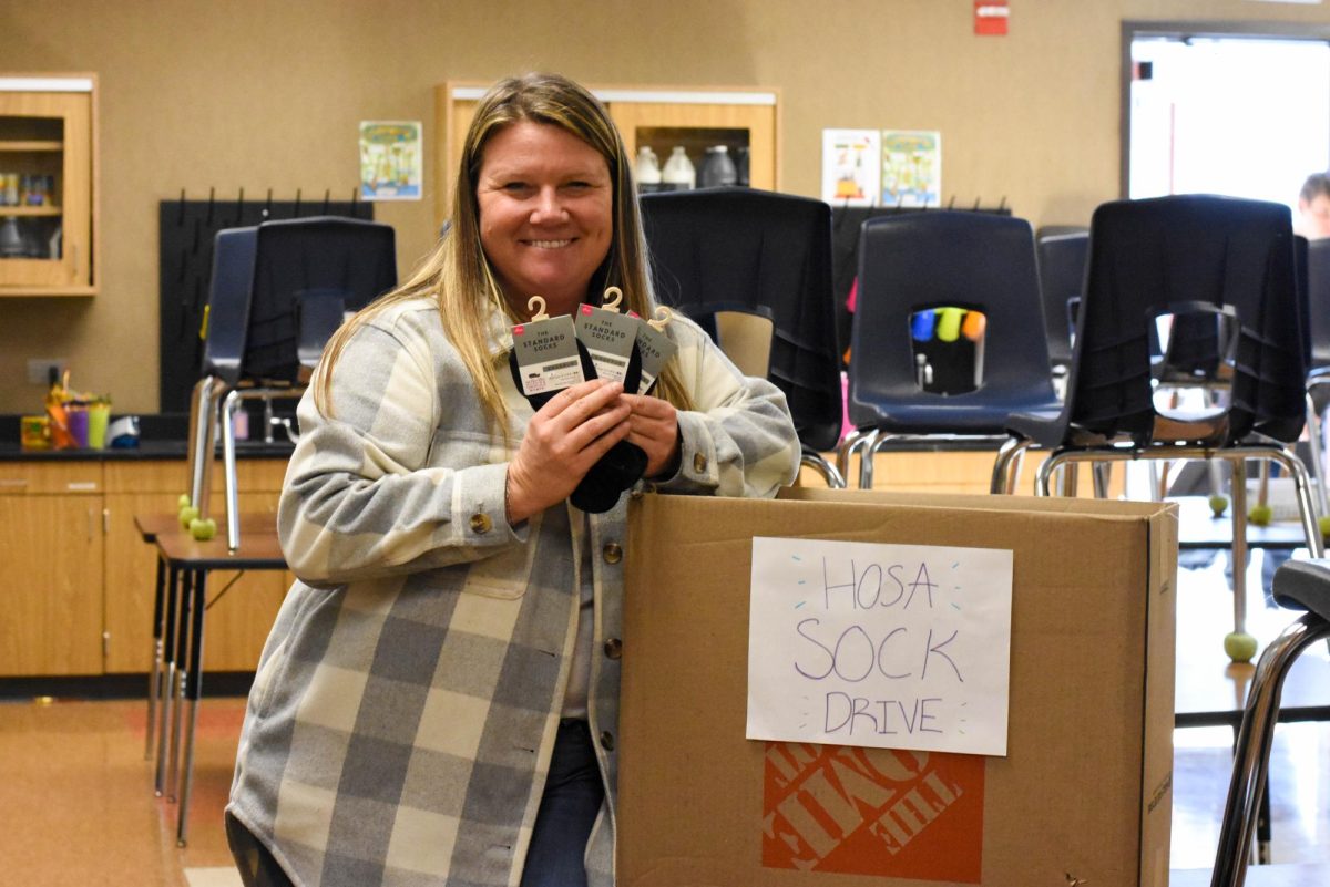
[[[1011,566],[754,538],[747,738],[1005,756]]]

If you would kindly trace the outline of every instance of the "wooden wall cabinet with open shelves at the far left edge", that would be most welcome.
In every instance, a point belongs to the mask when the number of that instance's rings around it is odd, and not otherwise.
[[[0,76],[0,296],[97,291],[94,86]]]

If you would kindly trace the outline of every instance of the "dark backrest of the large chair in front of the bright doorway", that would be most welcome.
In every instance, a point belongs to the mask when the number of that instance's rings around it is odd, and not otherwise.
[[[1071,424],[1149,442],[1150,328],[1160,315],[1197,309],[1224,311],[1237,324],[1225,442],[1253,430],[1295,440],[1305,378],[1289,208],[1209,195],[1117,201],[1095,211],[1068,381]]]

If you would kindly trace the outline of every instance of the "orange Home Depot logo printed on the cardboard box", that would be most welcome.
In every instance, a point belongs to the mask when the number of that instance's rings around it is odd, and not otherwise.
[[[762,864],[978,884],[984,758],[767,742]]]

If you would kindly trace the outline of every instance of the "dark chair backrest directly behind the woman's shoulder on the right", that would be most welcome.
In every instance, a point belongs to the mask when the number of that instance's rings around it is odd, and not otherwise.
[[[799,441],[841,437],[842,396],[831,296],[831,207],[789,194],[704,189],[646,194],[642,227],[656,297],[666,305],[767,309],[771,380]]]

